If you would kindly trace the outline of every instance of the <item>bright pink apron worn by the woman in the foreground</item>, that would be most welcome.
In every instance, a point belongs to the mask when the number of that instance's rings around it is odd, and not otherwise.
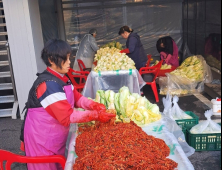
[[[74,108],[74,95],[71,85],[64,86],[70,105]],[[62,113],[61,113],[62,114]],[[62,126],[42,108],[28,109],[25,128],[26,156],[65,156],[69,127]],[[28,170],[62,170],[56,163],[28,164]]]

